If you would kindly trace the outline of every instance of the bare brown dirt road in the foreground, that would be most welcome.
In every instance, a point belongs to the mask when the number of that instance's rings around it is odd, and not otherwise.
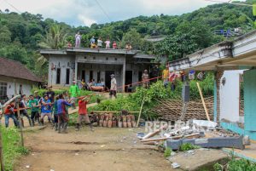
[[[20,159],[16,171],[172,171],[171,163],[136,138],[137,128],[69,128],[57,134],[51,128],[26,133],[31,153]],[[26,168],[27,167],[27,168]]]

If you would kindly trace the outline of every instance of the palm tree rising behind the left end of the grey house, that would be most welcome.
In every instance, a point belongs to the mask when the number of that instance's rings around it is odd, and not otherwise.
[[[38,45],[41,48],[64,48],[66,45],[66,37],[67,33],[64,31],[64,29],[61,28],[61,26],[52,25],[49,26],[49,29],[46,31],[46,37],[44,38],[44,41]]]

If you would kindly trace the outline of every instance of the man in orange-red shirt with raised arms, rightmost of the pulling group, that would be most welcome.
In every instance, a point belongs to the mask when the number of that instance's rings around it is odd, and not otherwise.
[[[78,117],[78,122],[77,122],[77,131],[80,129],[81,123],[89,124],[90,125],[90,130],[93,131],[92,124],[90,123],[90,118],[88,117],[87,114],[87,108],[86,105],[90,101],[91,95],[87,95],[85,97],[80,97],[79,98],[79,117]]]

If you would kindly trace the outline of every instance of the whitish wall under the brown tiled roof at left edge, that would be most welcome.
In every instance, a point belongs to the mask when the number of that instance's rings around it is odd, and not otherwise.
[[[0,83],[7,83],[7,95],[9,98],[12,97],[12,95],[15,94],[15,83],[16,82],[16,90],[17,93],[20,93],[20,85],[22,85],[23,94],[30,95],[31,89],[33,86],[38,86],[38,83],[34,83],[31,81],[23,80],[23,79],[17,79],[13,77],[3,77],[0,76]]]

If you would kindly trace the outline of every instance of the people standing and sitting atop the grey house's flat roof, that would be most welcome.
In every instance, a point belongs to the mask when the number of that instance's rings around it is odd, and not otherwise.
[[[80,35],[80,32],[78,32],[75,35],[75,47],[76,48],[80,48],[81,47],[81,40],[82,40],[82,36]],[[113,41],[113,43],[111,43],[111,41],[109,40],[109,38],[107,38],[106,41],[103,42],[102,37],[91,37],[90,38],[90,48],[103,48],[103,43],[105,44],[105,48],[110,49],[117,49],[119,48],[118,43],[116,41]],[[67,47],[71,48],[72,44],[69,42],[67,43]],[[127,43],[125,45],[125,49],[127,50],[131,50],[131,43]]]

